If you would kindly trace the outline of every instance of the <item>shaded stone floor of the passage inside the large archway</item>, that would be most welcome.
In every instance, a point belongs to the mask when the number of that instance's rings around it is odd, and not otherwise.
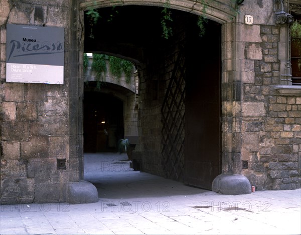
[[[137,198],[213,193],[129,167],[126,154],[85,153],[84,179],[93,183],[100,198]]]

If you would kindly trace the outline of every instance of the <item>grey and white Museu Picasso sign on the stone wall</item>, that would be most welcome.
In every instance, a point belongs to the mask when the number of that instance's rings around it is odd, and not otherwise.
[[[7,25],[6,81],[64,84],[64,28]]]

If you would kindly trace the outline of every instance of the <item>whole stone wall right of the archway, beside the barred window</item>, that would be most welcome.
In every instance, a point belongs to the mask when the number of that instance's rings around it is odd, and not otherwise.
[[[251,9],[262,11],[257,5]],[[300,188],[301,90],[287,86],[281,95],[275,89],[287,84],[288,25],[260,16],[254,24],[242,60],[242,173],[258,190]]]

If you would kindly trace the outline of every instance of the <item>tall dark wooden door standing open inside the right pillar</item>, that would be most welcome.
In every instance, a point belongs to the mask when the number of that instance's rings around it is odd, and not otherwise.
[[[221,30],[207,29],[186,68],[184,181],[211,190],[221,173]]]

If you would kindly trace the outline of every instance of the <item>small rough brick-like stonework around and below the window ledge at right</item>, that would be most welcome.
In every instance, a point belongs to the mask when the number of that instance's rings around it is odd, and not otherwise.
[[[280,84],[279,32],[260,26],[262,59],[254,60],[254,83],[244,84],[246,104],[255,102],[255,112],[262,109],[262,115],[249,110],[242,122],[242,160],[249,161],[243,173],[258,190],[300,188],[301,181],[301,98],[273,89]]]

